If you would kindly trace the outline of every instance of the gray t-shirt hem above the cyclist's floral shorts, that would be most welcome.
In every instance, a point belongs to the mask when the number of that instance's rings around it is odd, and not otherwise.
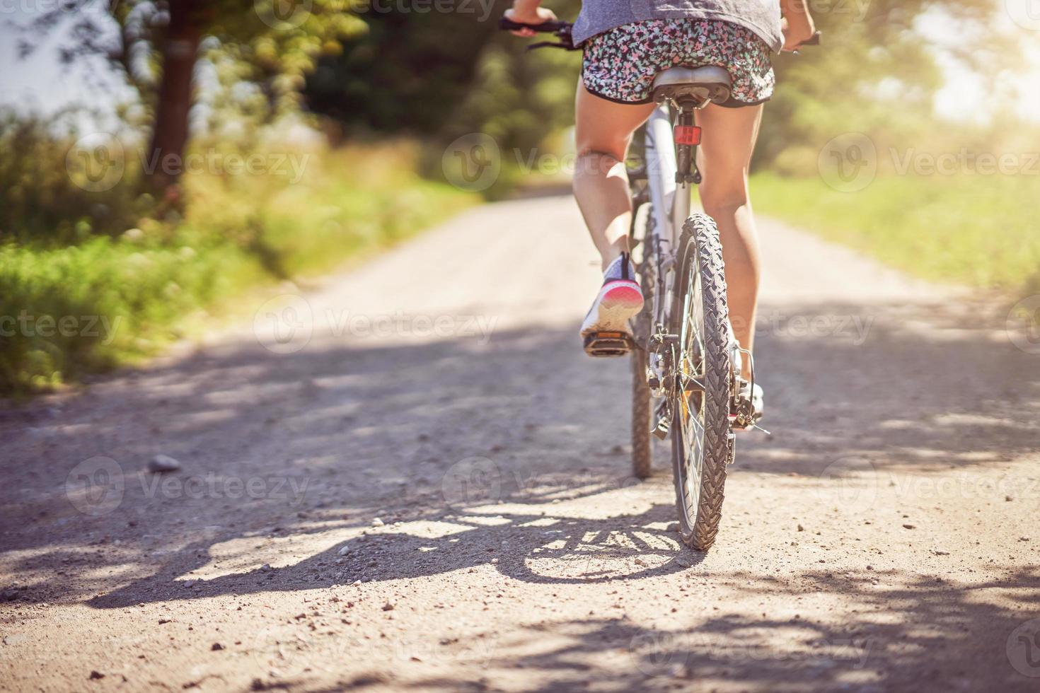
[[[574,43],[622,24],[682,17],[739,24],[774,51],[779,53],[783,47],[779,0],[584,0],[574,23]]]

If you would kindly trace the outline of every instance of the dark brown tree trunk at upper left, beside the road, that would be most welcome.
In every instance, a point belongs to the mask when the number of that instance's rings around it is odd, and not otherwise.
[[[177,183],[184,169],[188,140],[188,115],[194,102],[192,78],[202,30],[197,0],[171,0],[170,25],[162,46],[162,80],[155,105],[155,124],[148,157],[145,185],[153,193],[176,204]]]

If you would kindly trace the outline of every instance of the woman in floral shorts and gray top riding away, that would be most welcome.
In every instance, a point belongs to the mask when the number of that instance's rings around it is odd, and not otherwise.
[[[540,5],[514,0],[505,17],[522,24],[555,20]],[[572,34],[583,50],[574,196],[602,259],[603,286],[581,325],[582,338],[630,331],[628,319],[643,305],[628,259],[632,211],[624,161],[632,133],[654,109],[653,78],[675,65],[718,65],[729,72],[732,95],[697,112],[704,129],[697,150],[700,197],[719,225],[734,337],[752,349],[759,259],[748,167],[762,104],[773,94],[771,52],[792,51],[814,32],[806,0],[587,0]],[[530,29],[514,33],[535,35]],[[749,364],[743,366],[747,373]],[[759,408],[761,394],[755,395]]]

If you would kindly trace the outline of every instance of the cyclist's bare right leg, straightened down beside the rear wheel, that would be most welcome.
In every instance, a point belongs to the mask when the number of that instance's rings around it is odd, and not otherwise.
[[[758,300],[758,232],[748,194],[748,167],[758,137],[762,107],[723,108],[709,105],[697,113],[704,132],[698,165],[704,211],[719,224],[726,289],[733,331],[740,346],[754,346]],[[745,359],[745,373],[748,363]]]

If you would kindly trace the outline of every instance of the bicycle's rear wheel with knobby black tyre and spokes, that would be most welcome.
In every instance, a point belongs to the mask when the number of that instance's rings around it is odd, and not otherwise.
[[[673,353],[672,462],[682,540],[706,551],[722,519],[732,444],[726,279],[714,221],[704,214],[686,219],[678,250],[670,329],[679,336]]]

